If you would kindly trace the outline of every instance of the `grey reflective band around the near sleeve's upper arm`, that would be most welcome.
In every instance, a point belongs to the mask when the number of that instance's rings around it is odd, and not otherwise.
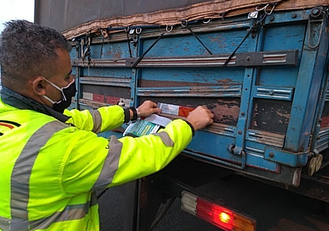
[[[122,143],[117,137],[111,136],[109,141],[108,153],[105,158],[101,173],[98,176],[91,190],[104,189],[107,185],[111,184],[113,177],[119,167],[119,159],[121,156]]]

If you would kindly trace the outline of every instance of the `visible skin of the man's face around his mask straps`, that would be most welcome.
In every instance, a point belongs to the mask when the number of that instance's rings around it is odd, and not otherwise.
[[[58,87],[62,88],[67,86],[72,82],[72,66],[70,62],[70,56],[66,50],[57,49],[58,55],[58,65],[57,65],[57,74],[48,78],[50,82],[56,84]],[[46,96],[53,101],[59,101],[62,99],[62,93],[57,88],[51,86],[49,83],[45,83],[44,89]],[[43,100],[48,106],[52,106],[51,102],[48,100]]]

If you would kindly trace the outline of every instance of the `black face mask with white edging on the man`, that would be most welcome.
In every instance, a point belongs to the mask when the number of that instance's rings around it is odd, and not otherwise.
[[[46,79],[44,79],[46,80]],[[67,86],[65,87],[59,87],[56,84],[50,82],[49,80],[46,80],[51,86],[55,87],[57,90],[62,92],[62,99],[59,101],[53,101],[47,96],[43,96],[45,99],[47,99],[49,102],[52,103],[52,109],[63,113],[65,109],[69,107],[72,101],[72,97],[76,95],[77,89],[76,89],[76,84],[75,81],[72,80]]]

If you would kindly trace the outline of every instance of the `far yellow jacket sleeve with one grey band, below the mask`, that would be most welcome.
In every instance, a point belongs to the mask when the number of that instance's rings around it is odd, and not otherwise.
[[[118,105],[104,106],[97,110],[65,110],[64,115],[70,117],[66,123],[71,123],[81,130],[94,133],[118,128],[130,120],[129,109],[123,109]]]

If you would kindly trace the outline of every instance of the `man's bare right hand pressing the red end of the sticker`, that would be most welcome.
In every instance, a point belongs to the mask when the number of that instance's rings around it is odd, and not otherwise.
[[[213,123],[214,114],[205,106],[198,106],[186,118],[194,127],[194,130],[203,129]]]

